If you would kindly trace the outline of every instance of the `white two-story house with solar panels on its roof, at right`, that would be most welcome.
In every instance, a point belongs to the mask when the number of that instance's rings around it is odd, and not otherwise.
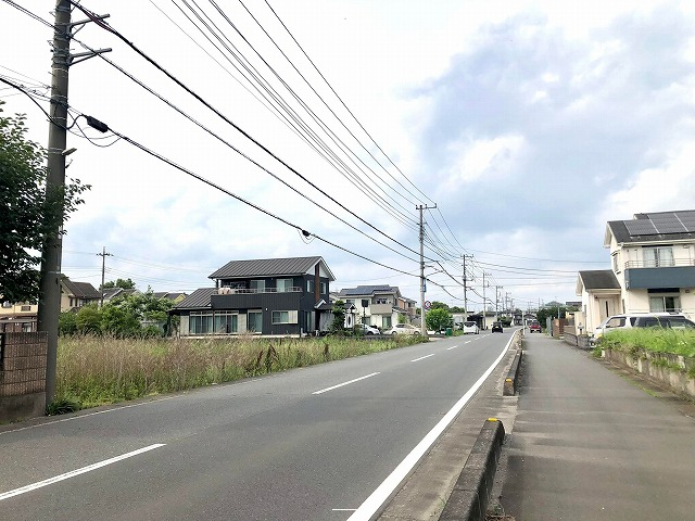
[[[620,313],[695,316],[695,211],[635,214],[606,226],[611,269],[580,271],[586,330]]]

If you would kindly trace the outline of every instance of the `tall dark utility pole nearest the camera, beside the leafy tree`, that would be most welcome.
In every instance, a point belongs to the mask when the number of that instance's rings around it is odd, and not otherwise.
[[[98,16],[104,18],[105,16]],[[50,120],[48,129],[48,175],[46,178],[46,198],[53,198],[55,193],[63,193],[65,187],[65,156],[67,143],[67,78],[70,66],[77,55],[71,55],[70,41],[73,29],[81,28],[90,20],[71,23],[70,0],[55,0],[55,24],[53,29],[52,66],[51,66],[51,102],[49,107]],[[110,49],[96,51],[108,52]],[[87,60],[96,55],[93,52],[81,53]],[[37,314],[38,331],[46,331],[48,346],[46,354],[46,405],[53,402],[55,395],[55,365],[58,360],[58,320],[61,313],[61,257],[63,208],[60,205],[59,225],[46,238],[41,249],[41,271],[39,281],[39,309]]]

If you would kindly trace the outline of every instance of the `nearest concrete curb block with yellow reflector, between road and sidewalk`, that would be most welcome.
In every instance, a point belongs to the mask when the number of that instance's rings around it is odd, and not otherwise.
[[[495,418],[485,421],[460,471],[440,521],[484,521],[502,453],[504,425]]]

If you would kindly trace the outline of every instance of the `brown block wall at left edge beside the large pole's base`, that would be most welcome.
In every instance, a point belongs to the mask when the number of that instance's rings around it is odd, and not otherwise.
[[[43,416],[46,332],[0,335],[0,421]]]

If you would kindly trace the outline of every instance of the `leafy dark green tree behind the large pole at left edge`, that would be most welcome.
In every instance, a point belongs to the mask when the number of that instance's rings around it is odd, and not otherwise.
[[[47,153],[27,140],[25,119],[0,114],[0,303],[38,302],[37,252],[90,188],[71,180],[47,191]]]

